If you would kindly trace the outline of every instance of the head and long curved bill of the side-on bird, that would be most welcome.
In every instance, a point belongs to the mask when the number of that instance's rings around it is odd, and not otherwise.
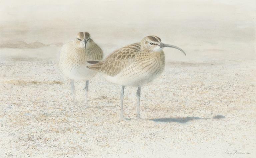
[[[141,50],[144,52],[158,52],[162,51],[164,47],[179,49],[186,55],[186,53],[181,48],[174,45],[162,43],[161,39],[157,36],[147,36],[141,40]]]

